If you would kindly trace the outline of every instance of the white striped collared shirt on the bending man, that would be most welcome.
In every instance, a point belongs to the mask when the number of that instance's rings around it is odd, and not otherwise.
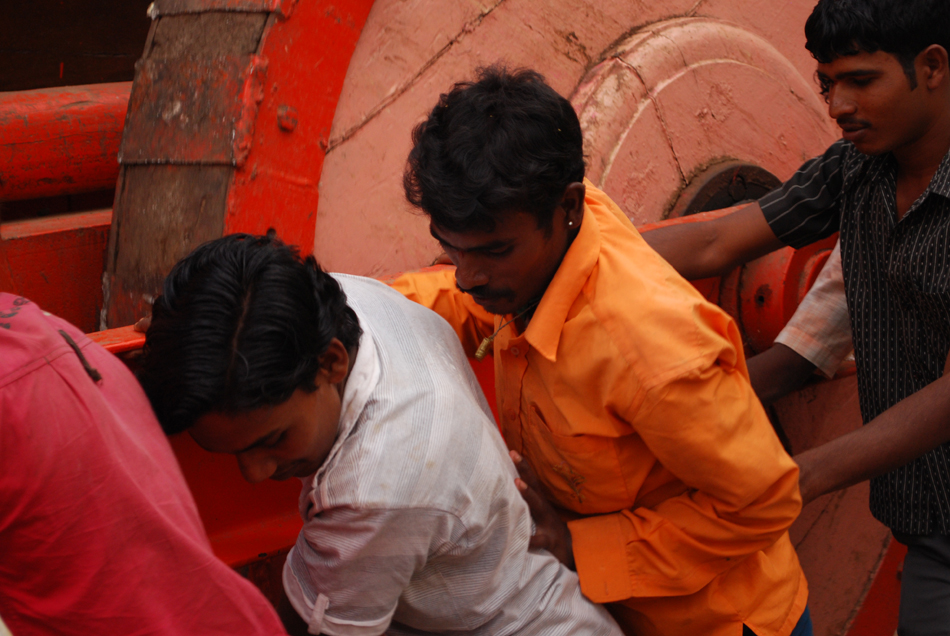
[[[617,635],[531,517],[448,323],[334,275],[363,328],[339,437],[304,480],[284,587],[311,633]]]

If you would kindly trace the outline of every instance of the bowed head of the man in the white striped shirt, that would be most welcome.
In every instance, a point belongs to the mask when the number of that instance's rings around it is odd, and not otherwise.
[[[236,455],[248,481],[303,477],[336,439],[360,334],[312,256],[271,236],[227,236],[165,279],[139,381],[166,433]]]

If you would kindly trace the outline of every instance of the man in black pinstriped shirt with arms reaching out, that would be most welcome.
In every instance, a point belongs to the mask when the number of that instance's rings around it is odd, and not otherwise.
[[[841,232],[865,426],[797,459],[807,501],[872,478],[908,545],[901,634],[950,625],[950,4],[821,0],[805,27],[843,139],[720,221],[648,241],[687,278]]]

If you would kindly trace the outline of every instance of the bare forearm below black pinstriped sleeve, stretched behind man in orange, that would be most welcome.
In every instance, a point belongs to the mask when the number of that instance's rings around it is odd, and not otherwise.
[[[649,230],[643,239],[687,280],[722,276],[784,246],[758,203],[710,221]]]

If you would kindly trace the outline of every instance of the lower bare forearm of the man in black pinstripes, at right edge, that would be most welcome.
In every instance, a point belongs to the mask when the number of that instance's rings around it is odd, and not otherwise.
[[[950,376],[907,397],[867,425],[795,456],[802,498],[847,488],[899,468],[950,441]]]

